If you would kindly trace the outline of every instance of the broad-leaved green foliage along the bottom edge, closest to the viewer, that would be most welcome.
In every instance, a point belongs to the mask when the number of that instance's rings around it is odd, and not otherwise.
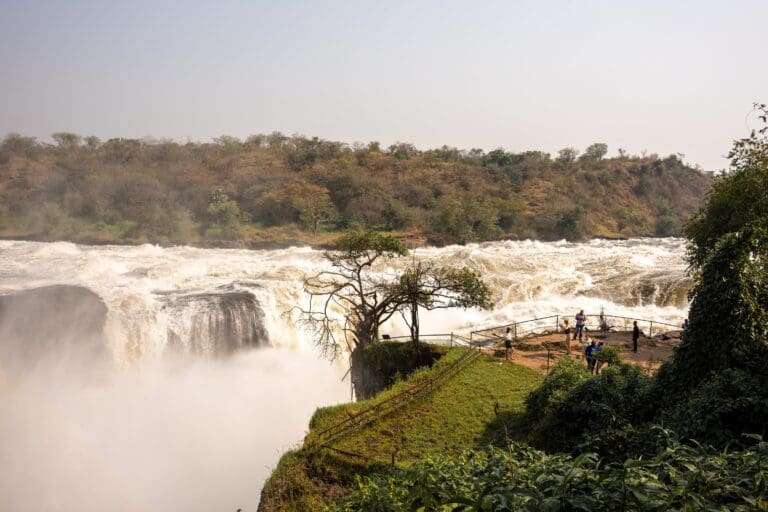
[[[713,451],[669,440],[653,457],[606,463],[594,453],[508,450],[430,457],[358,479],[339,511],[768,510],[768,443]]]

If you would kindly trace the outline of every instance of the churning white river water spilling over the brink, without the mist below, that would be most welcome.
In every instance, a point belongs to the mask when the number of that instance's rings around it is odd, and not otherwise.
[[[121,366],[169,353],[210,358],[250,347],[311,350],[312,340],[297,330],[289,311],[306,301],[303,279],[328,268],[322,253],[309,248],[0,242],[0,253],[0,295],[70,285],[97,296],[107,309],[105,343]],[[426,313],[425,332],[467,331],[511,319],[601,308],[679,323],[691,286],[680,239],[508,241],[413,253],[439,265],[479,271],[496,304],[491,311]],[[391,273],[409,261],[383,262],[376,271]],[[407,329],[395,319],[382,332],[405,334]]]

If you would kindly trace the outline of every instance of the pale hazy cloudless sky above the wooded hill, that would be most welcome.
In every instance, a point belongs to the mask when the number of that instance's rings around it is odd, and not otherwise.
[[[0,136],[280,130],[726,166],[768,1],[0,0]]]

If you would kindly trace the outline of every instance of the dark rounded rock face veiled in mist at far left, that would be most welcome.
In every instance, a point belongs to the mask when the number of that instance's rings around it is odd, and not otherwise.
[[[41,361],[68,363],[107,354],[107,307],[80,286],[45,286],[0,295],[0,358],[8,371]]]

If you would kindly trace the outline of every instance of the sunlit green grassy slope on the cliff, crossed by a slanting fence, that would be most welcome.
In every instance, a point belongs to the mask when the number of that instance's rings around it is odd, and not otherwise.
[[[319,409],[307,441],[349,414],[431,378],[463,352],[451,349],[432,368],[415,372],[371,400]],[[284,455],[262,491],[259,510],[319,510],[348,494],[356,475],[386,471],[393,456],[397,467],[409,467],[424,456],[503,446],[519,432],[523,400],[542,379],[529,368],[483,356],[428,396],[333,443],[354,456],[328,450]]]

